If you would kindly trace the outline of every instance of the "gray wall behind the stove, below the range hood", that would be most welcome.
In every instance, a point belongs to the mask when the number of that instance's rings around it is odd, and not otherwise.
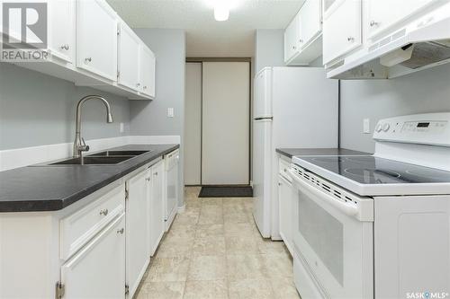
[[[379,119],[450,111],[450,65],[436,66],[390,80],[341,81],[341,146],[374,152],[371,131]]]

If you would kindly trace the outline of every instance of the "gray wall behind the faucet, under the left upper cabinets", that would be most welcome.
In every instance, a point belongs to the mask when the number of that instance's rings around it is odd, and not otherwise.
[[[114,122],[106,123],[100,101],[85,103],[85,139],[128,135],[130,104],[125,98],[0,63],[0,150],[72,142],[76,102],[87,94],[103,95],[112,105]],[[125,125],[120,133],[120,123]]]

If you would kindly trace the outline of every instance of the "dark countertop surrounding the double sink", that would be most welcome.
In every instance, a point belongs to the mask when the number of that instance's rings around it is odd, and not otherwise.
[[[0,212],[63,209],[178,147],[179,145],[124,145],[108,150],[151,152],[119,164],[52,166],[40,164],[2,171]]]

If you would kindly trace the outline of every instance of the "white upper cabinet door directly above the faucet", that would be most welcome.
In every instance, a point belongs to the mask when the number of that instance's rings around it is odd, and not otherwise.
[[[79,0],[76,17],[76,66],[115,81],[117,16],[104,0]]]

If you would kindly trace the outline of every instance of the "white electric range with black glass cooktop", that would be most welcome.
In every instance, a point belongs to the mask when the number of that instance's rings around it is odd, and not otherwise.
[[[302,299],[449,297],[450,113],[380,120],[374,140],[374,155],[293,157]]]

